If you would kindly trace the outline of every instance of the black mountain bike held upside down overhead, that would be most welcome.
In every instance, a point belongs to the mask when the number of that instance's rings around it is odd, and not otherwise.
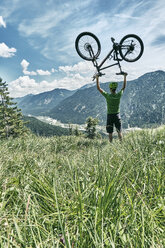
[[[97,74],[99,76],[105,75],[101,71],[109,67],[118,65],[120,72],[117,75],[123,75],[120,62],[125,60],[127,62],[135,62],[143,54],[144,45],[141,38],[135,34],[128,34],[124,36],[119,43],[115,42],[115,39],[111,37],[113,43],[112,50],[109,51],[107,56],[98,64],[97,59],[101,53],[101,44],[96,35],[90,32],[80,33],[75,41],[75,48],[79,56],[85,60],[92,61],[94,67],[96,67]],[[107,60],[115,61],[114,64],[103,66]],[[96,74],[95,74],[96,75]],[[95,79],[93,76],[93,80]]]

